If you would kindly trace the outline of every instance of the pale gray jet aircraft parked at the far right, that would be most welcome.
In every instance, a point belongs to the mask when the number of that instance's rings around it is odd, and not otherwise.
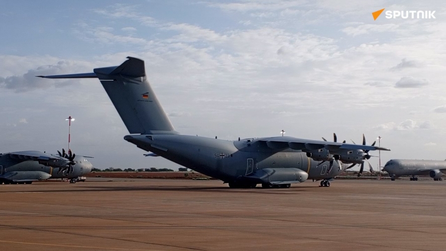
[[[408,175],[410,180],[418,180],[415,175],[428,175],[433,180],[442,180],[441,176],[446,172],[446,161],[438,160],[389,160],[383,168],[389,173],[391,180]]]

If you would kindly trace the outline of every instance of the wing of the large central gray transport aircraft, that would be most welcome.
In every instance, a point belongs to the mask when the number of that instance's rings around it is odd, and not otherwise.
[[[381,151],[390,151],[388,148],[384,147],[376,147],[376,146],[367,146],[367,145],[356,145],[356,144],[347,144],[341,142],[327,142],[327,141],[315,141],[315,140],[305,140],[298,139],[294,137],[271,137],[264,138],[260,141],[266,142],[267,146],[272,149],[285,149],[291,148],[294,150],[317,150],[325,148],[330,151],[336,150],[381,150]]]

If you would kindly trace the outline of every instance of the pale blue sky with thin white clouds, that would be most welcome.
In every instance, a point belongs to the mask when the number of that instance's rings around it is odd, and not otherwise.
[[[435,11],[434,20],[371,13]],[[183,134],[330,138],[391,158],[445,159],[446,23],[440,1],[4,1],[0,3],[0,152],[66,148],[99,168],[178,166],[125,142],[91,72],[127,56]],[[372,164],[377,165],[373,159]]]

